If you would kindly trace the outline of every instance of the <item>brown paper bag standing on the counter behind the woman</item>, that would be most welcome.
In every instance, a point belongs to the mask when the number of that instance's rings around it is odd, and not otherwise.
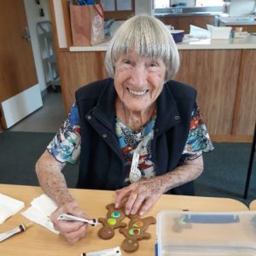
[[[104,34],[104,9],[102,4],[70,5],[73,45],[90,46],[102,43]]]

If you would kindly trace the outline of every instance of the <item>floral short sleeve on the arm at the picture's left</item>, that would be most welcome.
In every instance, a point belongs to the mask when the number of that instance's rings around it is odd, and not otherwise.
[[[70,109],[67,119],[62,123],[59,131],[47,146],[49,154],[61,163],[76,164],[79,160],[81,148],[81,122],[76,104]]]

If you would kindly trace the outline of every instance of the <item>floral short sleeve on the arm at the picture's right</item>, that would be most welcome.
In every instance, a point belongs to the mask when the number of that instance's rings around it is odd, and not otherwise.
[[[202,152],[209,152],[213,149],[212,141],[201,117],[200,109],[195,104],[191,113],[189,137],[183,149],[180,164],[188,160],[194,160],[201,156]]]

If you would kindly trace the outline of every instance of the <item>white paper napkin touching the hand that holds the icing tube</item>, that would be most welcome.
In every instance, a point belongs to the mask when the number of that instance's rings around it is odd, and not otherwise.
[[[57,208],[55,202],[52,201],[48,195],[43,194],[33,199],[30,204],[32,206],[25,212],[21,212],[21,214],[55,234],[59,234],[59,231],[55,230],[54,225],[49,219],[50,214],[55,212]]]

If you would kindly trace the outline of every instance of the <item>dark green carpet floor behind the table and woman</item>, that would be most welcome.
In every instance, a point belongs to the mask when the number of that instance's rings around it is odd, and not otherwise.
[[[54,133],[3,131],[0,133],[0,183],[38,185],[35,163]],[[256,199],[256,160],[253,163],[248,199],[243,200],[250,143],[214,143],[204,154],[205,169],[195,181],[195,193],[201,196],[230,197],[249,204]],[[67,165],[63,173],[67,185],[74,188],[79,165]]]

